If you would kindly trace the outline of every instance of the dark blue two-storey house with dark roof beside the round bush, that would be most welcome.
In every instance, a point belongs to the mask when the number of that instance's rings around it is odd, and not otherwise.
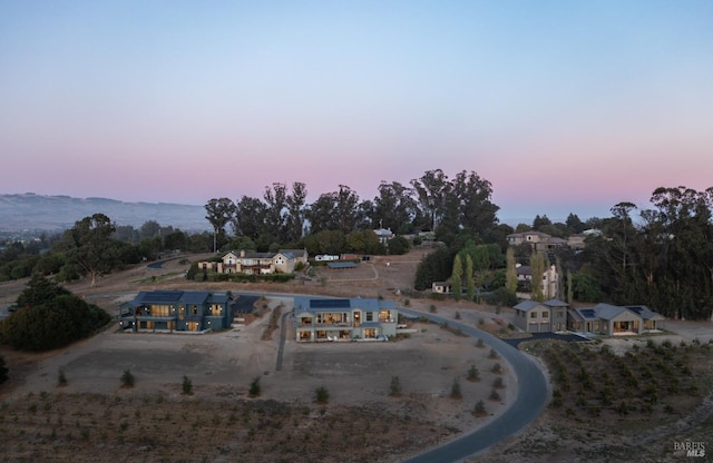
[[[226,293],[141,292],[119,309],[121,327],[134,332],[205,332],[231,327],[235,302]]]

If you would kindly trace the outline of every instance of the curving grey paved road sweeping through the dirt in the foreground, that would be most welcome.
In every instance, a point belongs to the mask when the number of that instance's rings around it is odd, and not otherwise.
[[[420,455],[413,456],[407,460],[407,463],[461,461],[518,433],[540,414],[548,397],[547,381],[543,371],[528,355],[522,354],[511,345],[473,326],[407,308],[399,308],[399,312],[406,315],[427,317],[436,323],[448,323],[450,327],[460,328],[465,334],[481,338],[512,366],[518,383],[515,402],[500,416],[455,441],[450,441],[443,445],[426,451]]]

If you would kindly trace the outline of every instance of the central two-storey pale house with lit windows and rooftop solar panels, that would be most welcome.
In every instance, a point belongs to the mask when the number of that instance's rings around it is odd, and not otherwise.
[[[397,334],[398,318],[392,301],[294,298],[297,342],[385,339]]]

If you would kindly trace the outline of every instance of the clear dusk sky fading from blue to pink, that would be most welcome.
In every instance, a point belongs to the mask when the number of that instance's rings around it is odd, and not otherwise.
[[[0,0],[0,193],[373,199],[440,168],[499,217],[713,186],[713,1]]]

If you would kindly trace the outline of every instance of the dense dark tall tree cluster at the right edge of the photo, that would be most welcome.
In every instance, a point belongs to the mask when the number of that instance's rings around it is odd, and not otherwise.
[[[586,254],[603,292],[674,318],[713,316],[713,188],[657,188],[651,209],[612,208]],[[636,211],[638,211],[636,216]],[[576,284],[576,282],[575,282]]]

